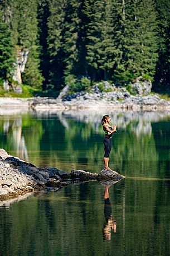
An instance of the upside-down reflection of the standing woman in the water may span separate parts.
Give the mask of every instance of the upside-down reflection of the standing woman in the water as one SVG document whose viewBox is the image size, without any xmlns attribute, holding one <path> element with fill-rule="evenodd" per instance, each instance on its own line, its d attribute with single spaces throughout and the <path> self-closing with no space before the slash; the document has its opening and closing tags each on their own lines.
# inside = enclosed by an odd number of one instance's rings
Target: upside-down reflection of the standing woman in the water
<svg viewBox="0 0 170 256">
<path fill-rule="evenodd" d="M 109 187 L 110 185 L 105 185 L 104 188 L 104 215 L 105 215 L 105 222 L 103 227 L 103 238 L 104 240 L 111 240 L 111 230 L 116 232 L 116 221 L 113 221 L 113 216 L 111 213 L 111 203 L 109 200 Z"/>
</svg>

